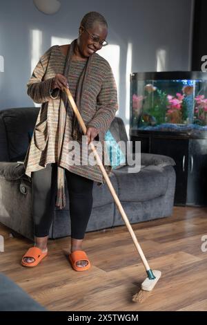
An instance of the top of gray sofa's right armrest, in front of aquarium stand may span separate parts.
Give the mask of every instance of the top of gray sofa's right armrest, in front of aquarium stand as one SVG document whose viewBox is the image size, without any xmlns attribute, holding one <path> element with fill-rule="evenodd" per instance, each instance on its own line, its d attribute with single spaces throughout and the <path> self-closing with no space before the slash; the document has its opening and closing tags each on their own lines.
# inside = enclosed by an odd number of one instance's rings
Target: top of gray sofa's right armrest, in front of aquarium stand
<svg viewBox="0 0 207 325">
<path fill-rule="evenodd" d="M 141 165 L 149 166 L 175 166 L 175 160 L 169 156 L 162 156 L 156 154 L 141 154 Z"/>
</svg>

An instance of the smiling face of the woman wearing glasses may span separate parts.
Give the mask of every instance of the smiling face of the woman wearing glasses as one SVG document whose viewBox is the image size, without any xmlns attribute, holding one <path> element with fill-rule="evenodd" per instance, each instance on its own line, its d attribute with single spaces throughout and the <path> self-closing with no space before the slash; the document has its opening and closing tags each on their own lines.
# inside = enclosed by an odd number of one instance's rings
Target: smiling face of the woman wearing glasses
<svg viewBox="0 0 207 325">
<path fill-rule="evenodd" d="M 83 57 L 90 57 L 93 53 L 102 48 L 101 41 L 105 41 L 108 30 L 95 22 L 92 28 L 86 30 L 83 26 L 79 28 L 78 46 L 79 52 Z"/>
</svg>

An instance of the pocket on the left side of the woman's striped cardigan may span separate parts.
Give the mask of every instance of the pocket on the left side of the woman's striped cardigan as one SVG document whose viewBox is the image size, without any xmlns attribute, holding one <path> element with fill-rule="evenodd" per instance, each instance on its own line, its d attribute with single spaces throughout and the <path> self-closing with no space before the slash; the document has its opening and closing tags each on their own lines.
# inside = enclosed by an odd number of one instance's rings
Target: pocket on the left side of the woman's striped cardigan
<svg viewBox="0 0 207 325">
<path fill-rule="evenodd" d="M 43 151 L 48 142 L 48 124 L 47 120 L 39 122 L 34 128 L 34 144 L 36 147 Z"/>
</svg>

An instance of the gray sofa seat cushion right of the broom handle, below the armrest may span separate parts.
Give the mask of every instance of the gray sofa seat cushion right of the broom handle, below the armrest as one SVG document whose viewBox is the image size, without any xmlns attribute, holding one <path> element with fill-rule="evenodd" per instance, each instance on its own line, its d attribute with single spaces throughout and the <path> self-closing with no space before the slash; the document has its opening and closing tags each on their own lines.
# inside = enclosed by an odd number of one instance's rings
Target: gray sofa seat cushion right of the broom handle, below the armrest
<svg viewBox="0 0 207 325">
<path fill-rule="evenodd" d="M 168 188 L 166 172 L 159 166 L 144 167 L 139 173 L 128 173 L 124 166 L 112 173 L 117 177 L 120 201 L 149 201 L 166 194 Z"/>
</svg>

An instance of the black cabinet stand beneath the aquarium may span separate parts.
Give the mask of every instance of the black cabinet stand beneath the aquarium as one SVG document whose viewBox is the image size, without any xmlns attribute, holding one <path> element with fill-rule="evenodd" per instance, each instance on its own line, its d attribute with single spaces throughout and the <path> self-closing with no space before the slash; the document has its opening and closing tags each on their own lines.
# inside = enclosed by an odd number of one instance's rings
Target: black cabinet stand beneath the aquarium
<svg viewBox="0 0 207 325">
<path fill-rule="evenodd" d="M 141 152 L 175 160 L 175 205 L 207 206 L 207 138 L 190 138 L 159 131 L 130 130 L 130 140 L 141 141 Z"/>
</svg>

